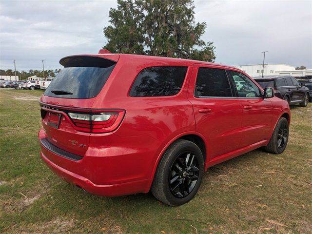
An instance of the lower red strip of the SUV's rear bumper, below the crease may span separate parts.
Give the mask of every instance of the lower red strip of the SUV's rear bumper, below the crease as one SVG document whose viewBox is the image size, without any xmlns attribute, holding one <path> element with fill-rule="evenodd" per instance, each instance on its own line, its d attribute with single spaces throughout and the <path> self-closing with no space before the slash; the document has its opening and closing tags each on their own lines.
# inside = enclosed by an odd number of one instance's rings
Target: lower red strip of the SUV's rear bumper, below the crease
<svg viewBox="0 0 312 234">
<path fill-rule="evenodd" d="M 101 196 L 121 196 L 130 195 L 135 193 L 148 193 L 149 185 L 151 184 L 150 179 L 131 181 L 120 184 L 109 184 L 109 185 L 98 185 L 94 184 L 89 179 L 70 172 L 57 164 L 50 161 L 42 152 L 40 152 L 42 160 L 47 166 L 59 177 L 63 178 L 69 183 L 75 184 L 85 191 Z"/>
</svg>

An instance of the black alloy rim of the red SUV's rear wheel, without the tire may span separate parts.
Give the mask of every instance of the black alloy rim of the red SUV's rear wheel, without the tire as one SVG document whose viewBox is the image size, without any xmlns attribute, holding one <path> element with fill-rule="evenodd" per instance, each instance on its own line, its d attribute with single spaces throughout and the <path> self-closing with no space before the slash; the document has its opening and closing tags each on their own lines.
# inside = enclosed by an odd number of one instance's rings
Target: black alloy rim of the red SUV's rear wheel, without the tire
<svg viewBox="0 0 312 234">
<path fill-rule="evenodd" d="M 176 157 L 169 173 L 169 188 L 178 198 L 189 195 L 199 176 L 198 161 L 194 153 L 185 152 Z"/>
</svg>

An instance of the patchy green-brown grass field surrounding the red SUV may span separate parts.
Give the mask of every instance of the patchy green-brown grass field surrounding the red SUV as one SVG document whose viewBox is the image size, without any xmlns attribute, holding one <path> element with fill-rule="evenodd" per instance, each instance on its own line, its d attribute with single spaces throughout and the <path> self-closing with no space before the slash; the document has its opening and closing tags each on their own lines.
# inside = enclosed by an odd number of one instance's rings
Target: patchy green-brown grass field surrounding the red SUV
<svg viewBox="0 0 312 234">
<path fill-rule="evenodd" d="M 312 103 L 293 106 L 286 151 L 256 150 L 204 174 L 195 198 L 100 197 L 39 157 L 42 91 L 0 90 L 0 233 L 312 233 Z"/>
</svg>

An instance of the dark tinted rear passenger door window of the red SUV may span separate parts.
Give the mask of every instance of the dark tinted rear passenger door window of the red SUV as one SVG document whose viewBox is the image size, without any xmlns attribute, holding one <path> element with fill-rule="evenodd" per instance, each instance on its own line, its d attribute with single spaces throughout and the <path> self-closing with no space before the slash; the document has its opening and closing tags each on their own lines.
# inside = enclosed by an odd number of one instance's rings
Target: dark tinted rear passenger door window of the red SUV
<svg viewBox="0 0 312 234">
<path fill-rule="evenodd" d="M 230 81 L 224 69 L 200 67 L 195 87 L 195 97 L 233 97 Z"/>
</svg>

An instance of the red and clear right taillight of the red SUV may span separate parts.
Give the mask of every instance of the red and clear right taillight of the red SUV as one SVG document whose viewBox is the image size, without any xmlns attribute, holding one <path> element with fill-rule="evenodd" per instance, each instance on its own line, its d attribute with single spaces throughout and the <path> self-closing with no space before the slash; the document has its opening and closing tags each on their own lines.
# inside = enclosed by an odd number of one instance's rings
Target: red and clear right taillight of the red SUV
<svg viewBox="0 0 312 234">
<path fill-rule="evenodd" d="M 78 131 L 107 133 L 114 131 L 119 126 L 124 111 L 68 112 L 67 114 Z"/>
</svg>

